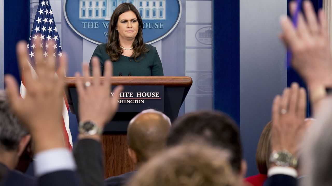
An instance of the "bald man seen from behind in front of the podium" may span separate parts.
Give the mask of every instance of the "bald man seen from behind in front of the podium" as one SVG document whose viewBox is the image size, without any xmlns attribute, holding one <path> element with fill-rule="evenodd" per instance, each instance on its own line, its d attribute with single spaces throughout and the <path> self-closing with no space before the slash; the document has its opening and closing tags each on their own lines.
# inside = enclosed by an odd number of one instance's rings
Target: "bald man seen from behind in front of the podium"
<svg viewBox="0 0 332 186">
<path fill-rule="evenodd" d="M 139 169 L 166 146 L 171 121 L 165 114 L 148 109 L 133 117 L 127 128 L 128 155 Z M 127 172 L 105 180 L 107 186 L 122 186 L 136 171 Z"/>
</svg>

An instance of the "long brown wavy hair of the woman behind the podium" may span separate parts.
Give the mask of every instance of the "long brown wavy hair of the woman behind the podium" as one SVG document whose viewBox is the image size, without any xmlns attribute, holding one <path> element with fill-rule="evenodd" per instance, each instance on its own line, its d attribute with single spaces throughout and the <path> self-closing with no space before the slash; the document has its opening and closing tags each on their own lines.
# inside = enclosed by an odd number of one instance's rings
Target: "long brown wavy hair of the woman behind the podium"
<svg viewBox="0 0 332 186">
<path fill-rule="evenodd" d="M 116 30 L 118 19 L 121 14 L 128 11 L 134 12 L 138 21 L 138 32 L 134 42 L 132 43 L 134 52 L 132 53 L 130 58 L 133 58 L 135 62 L 138 62 L 136 58 L 141 54 L 145 54 L 149 51 L 149 49 L 146 48 L 145 44 L 143 43 L 143 21 L 140 14 L 138 13 L 134 5 L 132 5 L 131 3 L 122 3 L 114 10 L 108 28 L 106 53 L 111 56 L 111 60 L 114 62 L 118 61 L 120 55 L 124 53 L 124 50 L 122 50 L 120 46 L 119 33 Z"/>
</svg>

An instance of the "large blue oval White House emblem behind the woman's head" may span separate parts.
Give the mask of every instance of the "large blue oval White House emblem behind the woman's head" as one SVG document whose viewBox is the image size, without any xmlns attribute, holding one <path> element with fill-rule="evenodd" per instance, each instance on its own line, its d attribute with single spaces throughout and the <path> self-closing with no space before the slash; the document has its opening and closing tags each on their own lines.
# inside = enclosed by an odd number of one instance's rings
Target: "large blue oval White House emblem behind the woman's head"
<svg viewBox="0 0 332 186">
<path fill-rule="evenodd" d="M 143 39 L 149 44 L 166 37 L 180 21 L 180 0 L 64 0 L 70 27 L 83 38 L 106 43 L 109 20 L 122 3 L 133 4 L 143 20 Z"/>
</svg>

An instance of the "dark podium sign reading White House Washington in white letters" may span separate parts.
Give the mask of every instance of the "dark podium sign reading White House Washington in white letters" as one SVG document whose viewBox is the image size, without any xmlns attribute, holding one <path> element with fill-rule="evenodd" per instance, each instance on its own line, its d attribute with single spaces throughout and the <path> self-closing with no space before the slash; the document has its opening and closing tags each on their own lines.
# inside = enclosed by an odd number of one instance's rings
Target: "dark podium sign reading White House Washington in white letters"
<svg viewBox="0 0 332 186">
<path fill-rule="evenodd" d="M 112 87 L 114 90 L 115 86 Z M 114 95 L 114 92 L 111 92 Z M 164 112 L 164 86 L 129 86 L 125 85 L 120 94 L 118 112 L 141 112 L 155 109 Z"/>
</svg>

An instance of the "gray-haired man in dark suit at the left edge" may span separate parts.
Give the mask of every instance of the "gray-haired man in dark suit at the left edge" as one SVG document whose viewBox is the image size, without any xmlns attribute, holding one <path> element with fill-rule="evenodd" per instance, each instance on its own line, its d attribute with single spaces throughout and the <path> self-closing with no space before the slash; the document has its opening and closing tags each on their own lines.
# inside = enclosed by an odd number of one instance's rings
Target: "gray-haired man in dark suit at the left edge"
<svg viewBox="0 0 332 186">
<path fill-rule="evenodd" d="M 0 168 L 3 185 L 35 185 L 34 177 L 15 170 L 19 158 L 31 139 L 28 130 L 9 108 L 7 93 L 0 91 Z"/>
</svg>

